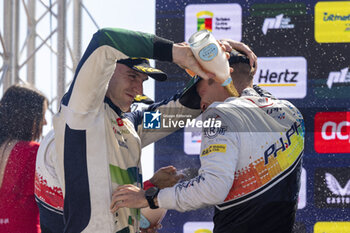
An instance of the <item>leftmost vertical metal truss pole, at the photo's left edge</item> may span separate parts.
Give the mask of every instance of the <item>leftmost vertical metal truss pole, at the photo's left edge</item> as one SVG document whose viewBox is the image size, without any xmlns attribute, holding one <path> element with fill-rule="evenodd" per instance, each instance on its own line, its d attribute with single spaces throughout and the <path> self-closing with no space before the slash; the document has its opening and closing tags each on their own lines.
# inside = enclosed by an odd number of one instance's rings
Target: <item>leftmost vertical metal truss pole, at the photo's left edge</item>
<svg viewBox="0 0 350 233">
<path fill-rule="evenodd" d="M 11 85 L 11 70 L 12 70 L 12 15 L 13 15 L 13 1 L 4 1 L 4 66 L 7 67 L 3 79 L 3 92 Z M 5 71 L 4 71 L 5 72 Z"/>
</svg>

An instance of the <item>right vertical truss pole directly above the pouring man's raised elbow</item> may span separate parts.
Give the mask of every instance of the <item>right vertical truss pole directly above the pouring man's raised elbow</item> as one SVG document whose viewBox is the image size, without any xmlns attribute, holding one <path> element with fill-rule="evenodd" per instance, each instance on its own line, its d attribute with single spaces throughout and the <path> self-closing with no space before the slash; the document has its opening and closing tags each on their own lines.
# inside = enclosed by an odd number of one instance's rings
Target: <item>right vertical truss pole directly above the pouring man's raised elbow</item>
<svg viewBox="0 0 350 233">
<path fill-rule="evenodd" d="M 74 0 L 73 22 L 73 70 L 78 66 L 81 57 L 81 0 Z"/>
</svg>

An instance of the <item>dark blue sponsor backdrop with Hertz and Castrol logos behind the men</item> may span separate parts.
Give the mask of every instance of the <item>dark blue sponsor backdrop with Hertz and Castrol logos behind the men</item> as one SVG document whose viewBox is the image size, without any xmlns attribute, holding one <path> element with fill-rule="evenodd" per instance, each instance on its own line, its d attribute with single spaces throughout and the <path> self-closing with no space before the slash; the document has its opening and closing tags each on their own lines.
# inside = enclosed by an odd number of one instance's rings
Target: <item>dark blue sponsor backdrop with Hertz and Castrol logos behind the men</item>
<svg viewBox="0 0 350 233">
<path fill-rule="evenodd" d="M 305 118 L 294 232 L 350 232 L 350 1 L 156 1 L 157 35 L 182 42 L 201 29 L 249 45 L 259 57 L 254 83 L 291 101 Z M 156 101 L 189 81 L 176 65 L 156 65 L 169 75 L 156 82 Z M 167 119 L 152 114 L 147 126 L 162 128 L 157 122 Z M 193 127 L 162 139 L 155 144 L 155 170 L 198 169 L 200 143 Z M 212 232 L 213 212 L 168 211 L 159 232 Z"/>
</svg>

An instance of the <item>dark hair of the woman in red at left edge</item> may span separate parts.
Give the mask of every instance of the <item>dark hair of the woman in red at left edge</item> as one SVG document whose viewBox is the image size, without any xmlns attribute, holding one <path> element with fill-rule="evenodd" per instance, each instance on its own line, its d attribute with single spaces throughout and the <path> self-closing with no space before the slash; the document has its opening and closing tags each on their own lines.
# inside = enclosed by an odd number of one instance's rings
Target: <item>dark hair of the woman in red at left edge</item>
<svg viewBox="0 0 350 233">
<path fill-rule="evenodd" d="M 0 100 L 0 145 L 6 140 L 39 139 L 46 97 L 28 85 L 9 87 Z"/>
</svg>

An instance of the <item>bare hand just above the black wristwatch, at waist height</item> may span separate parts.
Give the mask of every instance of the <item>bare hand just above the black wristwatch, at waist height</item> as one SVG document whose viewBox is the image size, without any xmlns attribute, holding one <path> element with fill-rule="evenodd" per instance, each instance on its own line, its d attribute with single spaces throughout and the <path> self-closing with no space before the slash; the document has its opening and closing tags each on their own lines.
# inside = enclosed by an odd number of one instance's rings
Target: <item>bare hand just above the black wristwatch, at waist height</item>
<svg viewBox="0 0 350 233">
<path fill-rule="evenodd" d="M 163 189 L 174 186 L 182 178 L 184 178 L 184 175 L 178 174 L 174 166 L 167 166 L 154 173 L 150 181 L 159 189 Z"/>
</svg>

